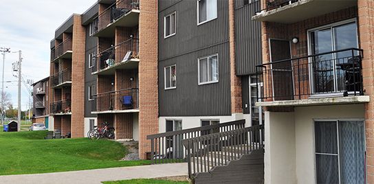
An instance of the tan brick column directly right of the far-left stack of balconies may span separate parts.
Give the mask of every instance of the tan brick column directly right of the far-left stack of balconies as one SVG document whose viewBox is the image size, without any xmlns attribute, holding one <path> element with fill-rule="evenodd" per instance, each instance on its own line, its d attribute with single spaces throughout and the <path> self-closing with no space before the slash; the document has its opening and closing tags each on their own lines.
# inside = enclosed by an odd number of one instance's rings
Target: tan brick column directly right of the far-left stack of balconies
<svg viewBox="0 0 374 184">
<path fill-rule="evenodd" d="M 72 137 L 85 136 L 85 27 L 74 15 L 72 56 Z"/>
</svg>

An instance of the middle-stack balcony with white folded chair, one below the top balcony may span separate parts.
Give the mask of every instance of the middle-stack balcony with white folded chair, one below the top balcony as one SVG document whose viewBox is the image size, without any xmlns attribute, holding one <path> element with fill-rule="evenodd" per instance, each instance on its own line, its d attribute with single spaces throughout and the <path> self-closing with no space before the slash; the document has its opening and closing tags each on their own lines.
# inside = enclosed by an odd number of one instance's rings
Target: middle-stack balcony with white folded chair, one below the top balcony
<svg viewBox="0 0 374 184">
<path fill-rule="evenodd" d="M 137 69 L 139 40 L 131 38 L 94 56 L 93 75 L 114 75 L 115 69 Z"/>
</svg>

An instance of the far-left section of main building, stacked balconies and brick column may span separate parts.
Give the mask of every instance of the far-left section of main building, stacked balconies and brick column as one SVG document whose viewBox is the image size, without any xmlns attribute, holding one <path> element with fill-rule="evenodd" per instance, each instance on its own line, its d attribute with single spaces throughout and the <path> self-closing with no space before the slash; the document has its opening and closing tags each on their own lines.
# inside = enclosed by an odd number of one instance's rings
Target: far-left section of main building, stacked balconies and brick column
<svg viewBox="0 0 374 184">
<path fill-rule="evenodd" d="M 84 137 L 85 27 L 73 14 L 51 41 L 50 115 L 62 135 Z"/>
</svg>

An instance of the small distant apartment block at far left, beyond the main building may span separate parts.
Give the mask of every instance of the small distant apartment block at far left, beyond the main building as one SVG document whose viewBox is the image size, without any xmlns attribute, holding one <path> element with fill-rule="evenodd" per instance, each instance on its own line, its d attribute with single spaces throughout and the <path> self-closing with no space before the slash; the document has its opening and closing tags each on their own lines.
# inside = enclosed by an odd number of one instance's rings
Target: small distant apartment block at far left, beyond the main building
<svg viewBox="0 0 374 184">
<path fill-rule="evenodd" d="M 49 128 L 49 86 L 50 77 L 32 84 L 32 122 L 43 123 Z"/>
</svg>

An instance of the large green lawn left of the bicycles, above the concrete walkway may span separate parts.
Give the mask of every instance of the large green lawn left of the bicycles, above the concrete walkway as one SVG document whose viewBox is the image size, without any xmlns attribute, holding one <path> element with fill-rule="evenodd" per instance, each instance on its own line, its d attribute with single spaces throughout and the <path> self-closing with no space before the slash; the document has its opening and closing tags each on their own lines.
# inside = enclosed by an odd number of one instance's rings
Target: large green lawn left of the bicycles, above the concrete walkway
<svg viewBox="0 0 374 184">
<path fill-rule="evenodd" d="M 108 140 L 49 139 L 46 131 L 4 133 L 0 126 L 0 175 L 91 170 L 150 161 L 119 161 L 126 154 L 120 143 Z"/>
</svg>

